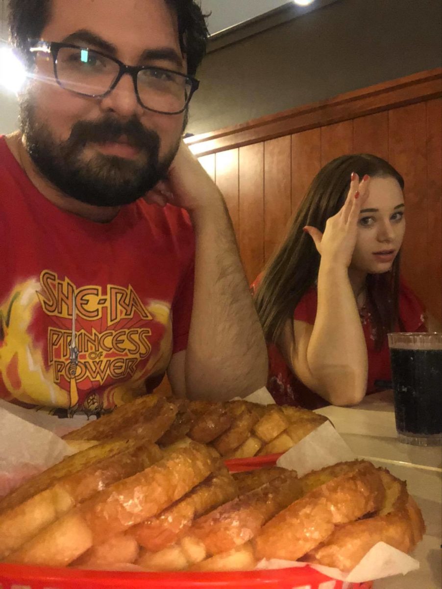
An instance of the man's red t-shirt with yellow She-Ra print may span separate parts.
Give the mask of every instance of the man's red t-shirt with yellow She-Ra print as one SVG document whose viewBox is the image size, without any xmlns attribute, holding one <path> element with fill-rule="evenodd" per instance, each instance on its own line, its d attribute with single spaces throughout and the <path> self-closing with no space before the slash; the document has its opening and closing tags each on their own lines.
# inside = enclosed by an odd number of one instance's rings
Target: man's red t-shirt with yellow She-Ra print
<svg viewBox="0 0 442 589">
<path fill-rule="evenodd" d="M 67 213 L 0 137 L 0 398 L 101 413 L 152 391 L 187 346 L 194 258 L 186 211 Z"/>
</svg>

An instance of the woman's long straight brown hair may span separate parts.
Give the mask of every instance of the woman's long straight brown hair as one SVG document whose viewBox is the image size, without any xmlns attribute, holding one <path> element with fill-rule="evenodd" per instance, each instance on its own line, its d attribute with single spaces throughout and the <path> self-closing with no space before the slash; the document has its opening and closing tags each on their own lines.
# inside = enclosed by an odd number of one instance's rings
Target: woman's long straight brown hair
<svg viewBox="0 0 442 589">
<path fill-rule="evenodd" d="M 303 227 L 310 225 L 325 230 L 327 219 L 333 217 L 346 200 L 352 172 L 360 178 L 365 174 L 371 178 L 391 177 L 404 189 L 399 172 L 387 161 L 371 154 L 341 155 L 316 174 L 286 239 L 267 263 L 256 289 L 256 308 L 267 342 L 279 341 L 287 319 L 293 318 L 304 293 L 317 280 L 320 255 Z M 367 275 L 367 304 L 377 349 L 399 321 L 399 265 L 398 254 L 389 272 Z"/>
</svg>

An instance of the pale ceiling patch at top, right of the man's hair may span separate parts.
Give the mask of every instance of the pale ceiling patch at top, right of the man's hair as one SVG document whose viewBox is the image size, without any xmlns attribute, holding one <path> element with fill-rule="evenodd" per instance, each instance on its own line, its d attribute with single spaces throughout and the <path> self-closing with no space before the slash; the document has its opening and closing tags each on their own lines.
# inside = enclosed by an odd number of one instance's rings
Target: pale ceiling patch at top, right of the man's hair
<svg viewBox="0 0 442 589">
<path fill-rule="evenodd" d="M 287 0 L 200 0 L 211 35 L 288 4 Z"/>
</svg>

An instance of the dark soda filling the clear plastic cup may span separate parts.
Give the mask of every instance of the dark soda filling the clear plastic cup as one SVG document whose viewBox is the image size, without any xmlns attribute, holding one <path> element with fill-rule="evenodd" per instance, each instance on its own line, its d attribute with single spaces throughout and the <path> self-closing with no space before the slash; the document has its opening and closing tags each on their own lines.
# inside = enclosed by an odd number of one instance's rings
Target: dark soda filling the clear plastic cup
<svg viewBox="0 0 442 589">
<path fill-rule="evenodd" d="M 442 350 L 391 349 L 396 428 L 442 434 Z"/>
</svg>

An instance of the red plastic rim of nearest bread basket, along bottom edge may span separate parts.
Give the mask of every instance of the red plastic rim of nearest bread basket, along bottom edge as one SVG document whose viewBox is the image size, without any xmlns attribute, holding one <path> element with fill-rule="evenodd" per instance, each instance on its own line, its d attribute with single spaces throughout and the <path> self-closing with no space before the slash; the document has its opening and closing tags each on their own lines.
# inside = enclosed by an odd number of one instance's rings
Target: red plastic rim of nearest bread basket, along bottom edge
<svg viewBox="0 0 442 589">
<path fill-rule="evenodd" d="M 0 565 L 2 589 L 371 589 L 344 583 L 310 567 L 237 573 L 115 573 L 72 568 Z"/>
</svg>

